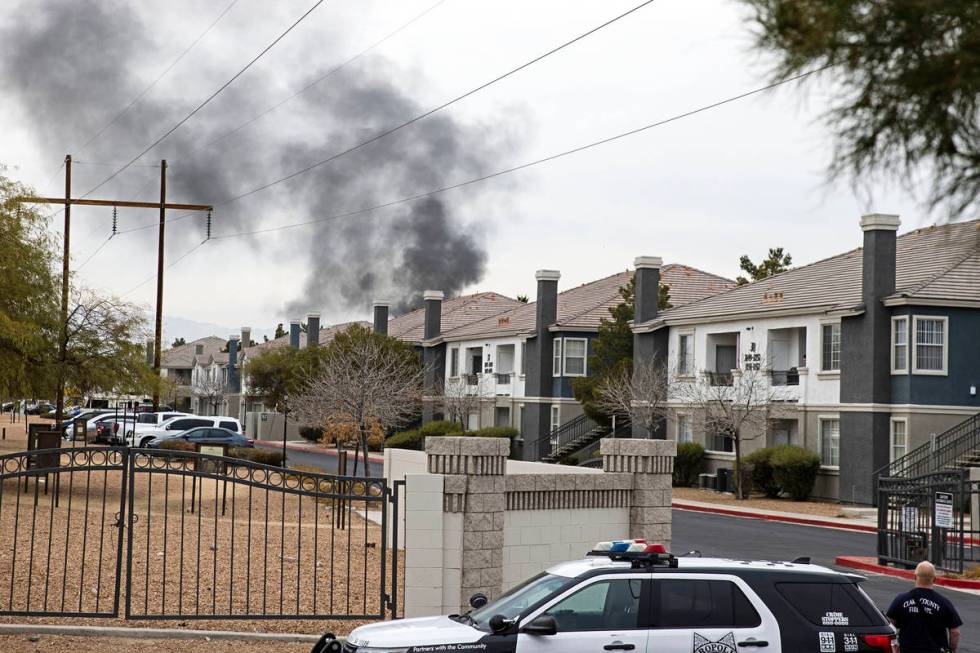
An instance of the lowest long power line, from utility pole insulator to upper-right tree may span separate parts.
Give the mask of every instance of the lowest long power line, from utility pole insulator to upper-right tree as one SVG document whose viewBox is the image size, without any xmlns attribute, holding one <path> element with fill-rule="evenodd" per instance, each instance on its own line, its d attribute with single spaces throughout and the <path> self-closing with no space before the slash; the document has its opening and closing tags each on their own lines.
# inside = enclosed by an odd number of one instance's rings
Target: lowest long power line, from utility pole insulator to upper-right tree
<svg viewBox="0 0 980 653">
<path fill-rule="evenodd" d="M 715 109 L 717 107 L 720 107 L 720 106 L 723 106 L 723 105 L 726 105 L 726 104 L 730 104 L 732 102 L 736 102 L 738 100 L 742 100 L 742 99 L 747 98 L 747 97 L 750 97 L 752 95 L 757 95 L 759 93 L 763 93 L 765 91 L 772 90 L 772 89 L 774 89 L 774 88 L 776 88 L 778 86 L 782 86 L 782 85 L 788 84 L 790 82 L 795 82 L 795 81 L 799 81 L 799 80 L 805 79 L 805 78 L 807 78 L 807 77 L 809 77 L 811 75 L 814 75 L 816 73 L 819 73 L 819 72 L 822 72 L 824 70 L 827 70 L 828 68 L 831 68 L 833 65 L 835 65 L 835 64 L 827 64 L 826 66 L 823 66 L 821 68 L 817 68 L 815 70 L 811 70 L 811 71 L 808 71 L 808 72 L 805 72 L 805 73 L 800 73 L 799 75 L 795 75 L 793 77 L 790 77 L 790 78 L 787 78 L 787 79 L 784 79 L 784 80 L 780 80 L 780 81 L 774 82 L 772 84 L 767 84 L 765 86 L 760 86 L 759 88 L 755 88 L 755 89 L 752 89 L 750 91 L 746 91 L 744 93 L 739 93 L 738 95 L 733 95 L 733 96 L 728 97 L 728 98 L 725 98 L 723 100 L 718 100 L 717 102 L 712 102 L 711 104 L 706 104 L 706 105 L 703 105 L 703 106 L 698 107 L 696 109 L 691 109 L 689 111 L 685 111 L 683 113 L 676 114 L 676 115 L 671 116 L 669 118 L 664 118 L 662 120 L 658 120 L 656 122 L 652 122 L 652 123 L 649 123 L 649 124 L 646 124 L 646 125 L 637 127 L 635 129 L 631 129 L 629 131 L 621 132 L 619 134 L 615 134 L 613 136 L 608 136 L 606 138 L 602 138 L 602 139 L 597 140 L 597 141 L 592 141 L 590 143 L 585 143 L 583 145 L 579 145 L 579 146 L 573 147 L 573 148 L 568 149 L 568 150 L 563 150 L 561 152 L 557 152 L 555 154 L 551 154 L 551 155 L 548 155 L 548 156 L 543 157 L 543 158 L 540 158 L 540 159 L 535 159 L 533 161 L 528 161 L 526 163 L 522 163 L 520 165 L 516 165 L 516 166 L 510 167 L 510 168 L 505 168 L 503 170 L 498 170 L 496 172 L 492 172 L 492 173 L 489 173 L 489 174 L 486 174 L 486 175 L 482 175 L 480 177 L 474 177 L 473 179 L 467 179 L 466 181 L 461 181 L 461 182 L 458 182 L 458 183 L 455 183 L 455 184 L 452 184 L 452 185 L 449 185 L 449 186 L 443 186 L 442 188 L 437 188 L 435 190 L 430 190 L 430 191 L 426 191 L 426 192 L 423 192 L 423 193 L 417 193 L 415 195 L 409 195 L 407 197 L 400 197 L 398 199 L 390 200 L 390 201 L 384 202 L 382 204 L 375 204 L 374 206 L 368 206 L 368 207 L 361 208 L 361 209 L 355 209 L 355 210 L 346 211 L 346 212 L 343 212 L 343 213 L 335 213 L 333 215 L 330 215 L 330 216 L 327 216 L 327 217 L 323 217 L 323 218 L 316 218 L 314 220 L 307 220 L 307 221 L 304 221 L 304 222 L 296 222 L 296 223 L 288 224 L 288 225 L 280 225 L 278 227 L 269 227 L 269 228 L 266 228 L 266 229 L 253 229 L 251 231 L 239 231 L 239 232 L 235 232 L 235 233 L 231 233 L 231 234 L 216 235 L 216 236 L 212 236 L 211 238 L 212 238 L 212 240 L 225 240 L 225 239 L 228 239 L 228 238 L 237 238 L 239 236 L 252 236 L 252 235 L 256 235 L 256 234 L 270 233 L 270 232 L 273 232 L 273 231 L 283 231 L 285 229 L 295 229 L 297 227 L 304 227 L 304 226 L 308 226 L 308 225 L 311 225 L 311 224 L 316 224 L 316 223 L 319 223 L 319 222 L 328 222 L 328 221 L 332 221 L 332 220 L 340 220 L 340 219 L 343 219 L 343 218 L 349 218 L 349 217 L 353 217 L 355 215 L 361 215 L 361 214 L 364 214 L 364 213 L 370 213 L 372 211 L 377 211 L 379 209 L 384 209 L 384 208 L 388 208 L 388 207 L 391 207 L 391 206 L 396 206 L 398 204 L 404 204 L 404 203 L 407 203 L 407 202 L 414 202 L 414 201 L 417 201 L 417 200 L 420 200 L 420 199 L 425 199 L 427 197 L 432 197 L 434 195 L 440 195 L 442 193 L 445 193 L 445 192 L 448 192 L 448 191 L 451 191 L 451 190 L 455 190 L 457 188 L 462 188 L 464 186 L 470 186 L 472 184 L 477 184 L 477 183 L 480 183 L 480 182 L 483 182 L 483 181 L 487 181 L 487 180 L 490 180 L 490 179 L 495 179 L 497 177 L 502 177 L 504 175 L 508 175 L 508 174 L 513 173 L 513 172 L 517 172 L 519 170 L 524 170 L 526 168 L 531 168 L 533 166 L 541 165 L 543 163 L 548 163 L 550 161 L 554 161 L 556 159 L 561 159 L 561 158 L 564 158 L 566 156 L 570 156 L 572 154 L 577 154 L 578 152 L 583 152 L 585 150 L 589 150 L 589 149 L 592 149 L 594 147 L 599 147 L 600 145 L 605 145 L 607 143 L 612 143 L 614 141 L 618 141 L 618 140 L 621 140 L 623 138 L 627 138 L 629 136 L 634 136 L 636 134 L 640 134 L 642 132 L 648 131 L 648 130 L 653 129 L 655 127 L 660 127 L 660 126 L 666 125 L 668 123 L 676 122 L 678 120 L 682 120 L 684 118 L 688 118 L 690 116 L 693 116 L 693 115 L 696 115 L 696 114 L 699 114 L 699 113 L 703 113 L 705 111 L 709 111 L 711 109 Z"/>
</svg>

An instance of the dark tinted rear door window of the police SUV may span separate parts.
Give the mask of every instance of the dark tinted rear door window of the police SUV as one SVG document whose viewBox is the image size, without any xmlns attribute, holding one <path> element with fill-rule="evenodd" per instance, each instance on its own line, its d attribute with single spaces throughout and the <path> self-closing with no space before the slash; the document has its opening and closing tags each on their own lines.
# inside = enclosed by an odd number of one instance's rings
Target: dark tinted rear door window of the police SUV
<svg viewBox="0 0 980 653">
<path fill-rule="evenodd" d="M 755 628 L 759 613 L 727 580 L 653 581 L 654 628 Z"/>
</svg>

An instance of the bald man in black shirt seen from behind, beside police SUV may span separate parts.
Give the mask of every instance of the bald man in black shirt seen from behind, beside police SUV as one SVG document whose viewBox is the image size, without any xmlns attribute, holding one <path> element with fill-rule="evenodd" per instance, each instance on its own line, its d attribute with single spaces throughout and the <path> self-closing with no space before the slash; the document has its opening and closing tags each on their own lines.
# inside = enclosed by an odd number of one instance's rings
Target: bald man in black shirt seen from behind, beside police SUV
<svg viewBox="0 0 980 653">
<path fill-rule="evenodd" d="M 915 589 L 899 594 L 887 616 L 898 627 L 902 653 L 956 653 L 963 620 L 946 597 L 932 589 L 936 568 L 920 562 L 915 568 Z"/>
</svg>

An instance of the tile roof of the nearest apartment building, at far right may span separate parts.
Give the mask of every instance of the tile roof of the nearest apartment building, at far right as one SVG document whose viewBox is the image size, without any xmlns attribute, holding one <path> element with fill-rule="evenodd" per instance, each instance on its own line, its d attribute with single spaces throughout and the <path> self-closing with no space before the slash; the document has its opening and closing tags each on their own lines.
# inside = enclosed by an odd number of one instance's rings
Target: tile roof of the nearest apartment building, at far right
<svg viewBox="0 0 980 653">
<path fill-rule="evenodd" d="M 889 299 L 980 301 L 980 220 L 902 234 Z M 861 303 L 862 249 L 793 268 L 661 313 L 646 326 L 785 311 L 832 311 Z"/>
</svg>

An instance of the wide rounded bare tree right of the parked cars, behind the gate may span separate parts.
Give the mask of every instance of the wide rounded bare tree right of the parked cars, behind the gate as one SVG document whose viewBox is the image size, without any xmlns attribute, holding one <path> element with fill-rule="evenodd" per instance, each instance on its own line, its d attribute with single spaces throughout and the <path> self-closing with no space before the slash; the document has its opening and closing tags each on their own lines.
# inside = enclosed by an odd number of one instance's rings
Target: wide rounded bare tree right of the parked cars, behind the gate
<svg viewBox="0 0 980 653">
<path fill-rule="evenodd" d="M 421 411 L 424 367 L 410 346 L 353 325 L 323 349 L 306 382 L 290 398 L 290 410 L 301 420 L 355 425 L 366 454 L 372 423 L 387 431 L 404 426 Z"/>
</svg>

